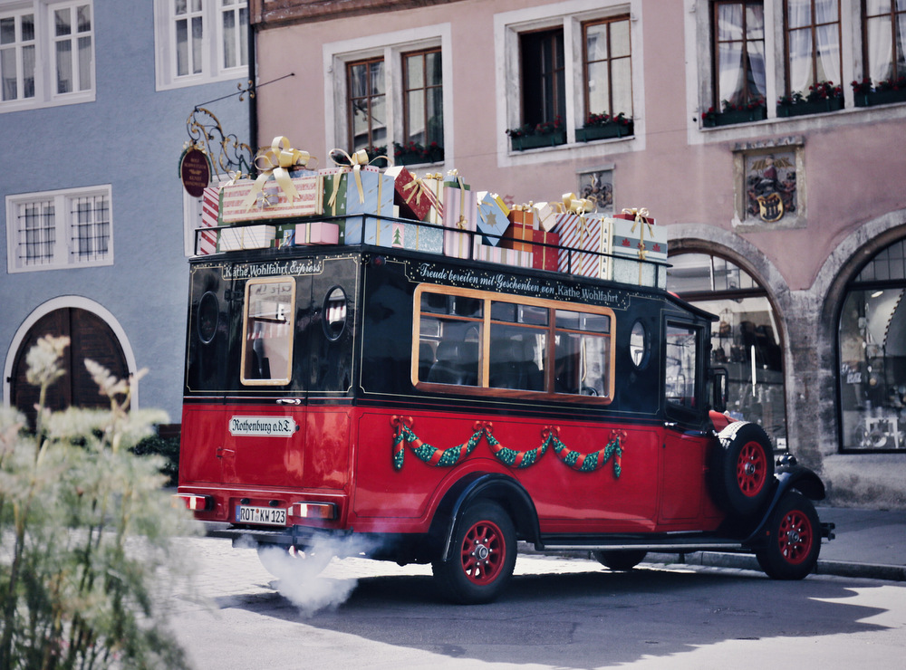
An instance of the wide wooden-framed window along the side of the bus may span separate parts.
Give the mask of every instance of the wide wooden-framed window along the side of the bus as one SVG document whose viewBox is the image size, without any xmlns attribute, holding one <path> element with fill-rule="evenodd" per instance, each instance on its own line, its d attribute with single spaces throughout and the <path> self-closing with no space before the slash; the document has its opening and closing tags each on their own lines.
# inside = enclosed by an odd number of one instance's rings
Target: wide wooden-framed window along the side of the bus
<svg viewBox="0 0 906 670">
<path fill-rule="evenodd" d="M 423 284 L 416 291 L 416 384 L 609 402 L 612 311 Z M 461 388 L 461 391 L 458 391 Z"/>
</svg>

